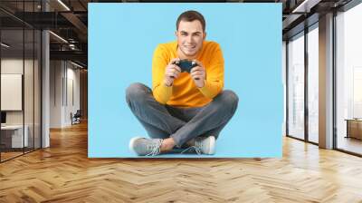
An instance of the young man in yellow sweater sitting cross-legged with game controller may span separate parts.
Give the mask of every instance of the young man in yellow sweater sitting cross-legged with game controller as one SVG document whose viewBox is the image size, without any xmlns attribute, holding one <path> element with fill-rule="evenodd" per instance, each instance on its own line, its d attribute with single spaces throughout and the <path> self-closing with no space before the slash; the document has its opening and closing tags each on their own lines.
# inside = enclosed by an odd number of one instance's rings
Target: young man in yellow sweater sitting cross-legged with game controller
<svg viewBox="0 0 362 203">
<path fill-rule="evenodd" d="M 161 43 L 153 56 L 152 90 L 132 83 L 126 91 L 130 110 L 148 131 L 129 148 L 158 155 L 174 148 L 214 154 L 215 140 L 233 117 L 238 97 L 224 88 L 224 57 L 218 43 L 205 41 L 204 16 L 195 11 L 176 21 L 176 42 Z M 181 72 L 181 60 L 192 62 Z"/>
</svg>

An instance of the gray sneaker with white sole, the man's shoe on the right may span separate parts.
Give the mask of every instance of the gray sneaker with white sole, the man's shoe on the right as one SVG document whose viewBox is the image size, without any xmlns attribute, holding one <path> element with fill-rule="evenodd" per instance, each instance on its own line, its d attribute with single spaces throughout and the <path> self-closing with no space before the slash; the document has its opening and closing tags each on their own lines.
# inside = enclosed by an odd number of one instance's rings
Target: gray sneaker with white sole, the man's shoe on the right
<svg viewBox="0 0 362 203">
<path fill-rule="evenodd" d="M 209 137 L 197 137 L 187 144 L 190 146 L 186 150 L 183 150 L 181 153 L 186 152 L 187 150 L 195 150 L 195 152 L 200 154 L 214 154 L 215 149 L 215 138 L 214 136 Z"/>
</svg>

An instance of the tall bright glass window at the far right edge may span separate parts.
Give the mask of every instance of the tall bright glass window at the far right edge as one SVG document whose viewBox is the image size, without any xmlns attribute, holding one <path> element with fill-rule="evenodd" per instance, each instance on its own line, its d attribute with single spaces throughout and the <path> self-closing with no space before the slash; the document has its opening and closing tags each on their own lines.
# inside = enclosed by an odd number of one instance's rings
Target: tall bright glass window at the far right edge
<svg viewBox="0 0 362 203">
<path fill-rule="evenodd" d="M 337 148 L 362 154 L 362 4 L 337 21 Z"/>
</svg>

